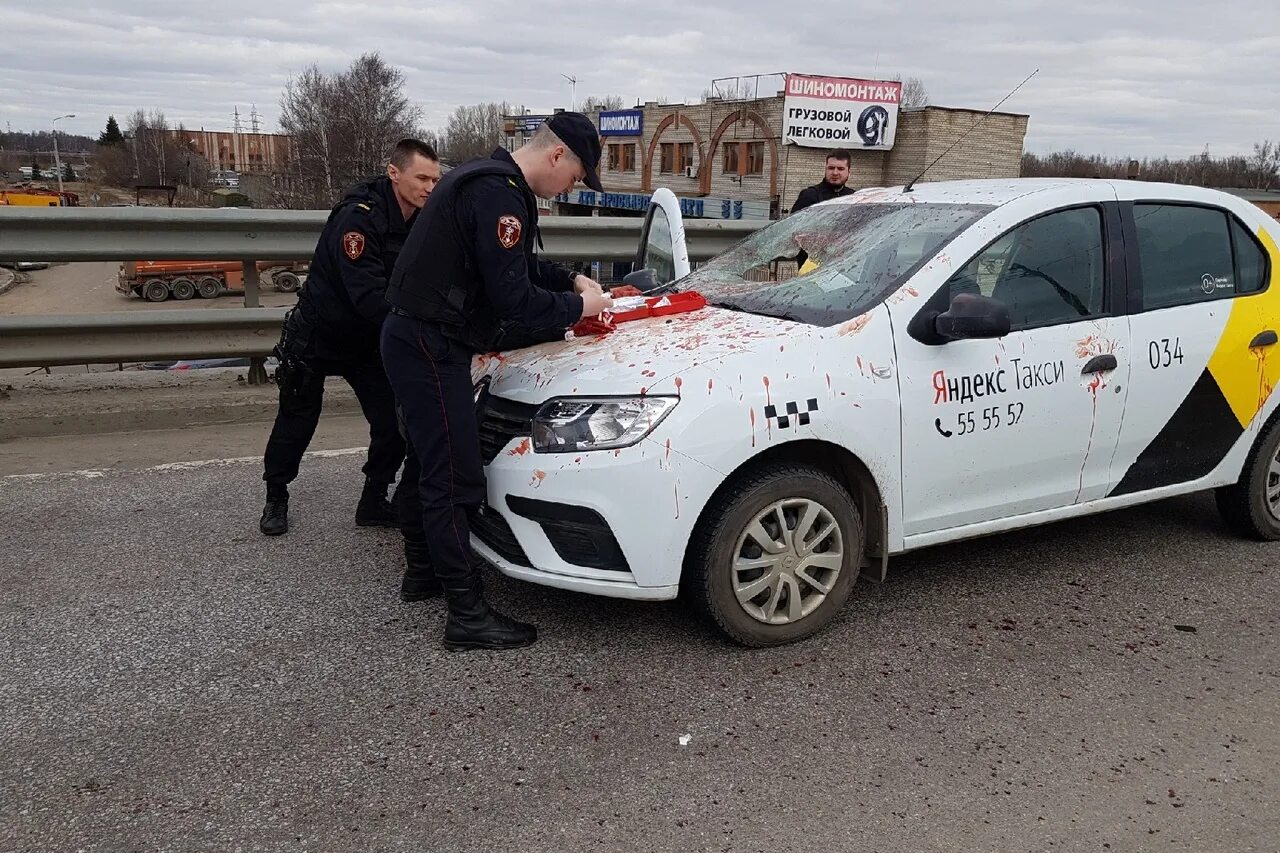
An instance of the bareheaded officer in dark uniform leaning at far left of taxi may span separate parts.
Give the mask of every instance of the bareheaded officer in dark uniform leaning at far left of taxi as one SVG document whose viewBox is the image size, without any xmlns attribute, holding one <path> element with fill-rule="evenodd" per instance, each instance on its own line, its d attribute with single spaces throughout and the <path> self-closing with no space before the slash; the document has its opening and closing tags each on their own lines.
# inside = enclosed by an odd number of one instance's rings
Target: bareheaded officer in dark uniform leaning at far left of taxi
<svg viewBox="0 0 1280 853">
<path fill-rule="evenodd" d="M 311 443 L 324 400 L 325 377 L 342 377 L 369 421 L 365 488 L 356 524 L 396 526 L 387 488 L 404 460 L 396 398 L 378 352 L 387 316 L 387 279 L 417 211 L 440 179 L 431 146 L 401 140 L 387 174 L 357 183 L 329 214 L 297 306 L 284 321 L 276 355 L 280 406 L 266 442 L 266 535 L 289 529 L 288 484 Z"/>
</svg>

